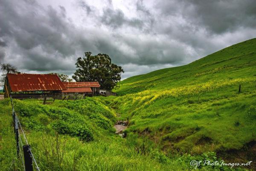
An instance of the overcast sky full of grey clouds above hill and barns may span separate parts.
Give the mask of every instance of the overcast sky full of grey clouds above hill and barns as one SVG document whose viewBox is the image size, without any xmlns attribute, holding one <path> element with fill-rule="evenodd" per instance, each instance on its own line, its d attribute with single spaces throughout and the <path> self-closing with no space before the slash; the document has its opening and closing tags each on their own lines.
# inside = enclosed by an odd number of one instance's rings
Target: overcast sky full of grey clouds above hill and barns
<svg viewBox="0 0 256 171">
<path fill-rule="evenodd" d="M 127 78 L 255 37 L 255 0 L 0 0 L 0 62 L 27 73 L 72 75 L 90 51 Z"/>
</svg>

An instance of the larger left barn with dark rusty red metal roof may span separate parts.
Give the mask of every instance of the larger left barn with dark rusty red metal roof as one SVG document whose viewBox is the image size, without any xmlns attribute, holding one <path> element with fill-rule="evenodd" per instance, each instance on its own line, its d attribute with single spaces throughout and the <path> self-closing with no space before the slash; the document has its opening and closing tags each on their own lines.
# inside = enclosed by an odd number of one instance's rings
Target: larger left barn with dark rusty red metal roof
<svg viewBox="0 0 256 171">
<path fill-rule="evenodd" d="M 55 74 L 7 74 L 4 84 L 4 97 L 15 99 L 60 97 L 66 87 Z"/>
</svg>

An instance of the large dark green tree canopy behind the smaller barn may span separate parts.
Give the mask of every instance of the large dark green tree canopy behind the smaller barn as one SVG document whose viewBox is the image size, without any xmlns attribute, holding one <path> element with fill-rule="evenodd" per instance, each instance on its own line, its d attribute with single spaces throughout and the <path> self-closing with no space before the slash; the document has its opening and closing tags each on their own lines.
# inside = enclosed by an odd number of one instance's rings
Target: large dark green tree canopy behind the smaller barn
<svg viewBox="0 0 256 171">
<path fill-rule="evenodd" d="M 111 62 L 107 54 L 92 55 L 85 52 L 83 57 L 77 58 L 76 72 L 72 78 L 76 81 L 99 81 L 102 89 L 112 90 L 121 74 L 124 72 L 122 67 Z"/>
</svg>

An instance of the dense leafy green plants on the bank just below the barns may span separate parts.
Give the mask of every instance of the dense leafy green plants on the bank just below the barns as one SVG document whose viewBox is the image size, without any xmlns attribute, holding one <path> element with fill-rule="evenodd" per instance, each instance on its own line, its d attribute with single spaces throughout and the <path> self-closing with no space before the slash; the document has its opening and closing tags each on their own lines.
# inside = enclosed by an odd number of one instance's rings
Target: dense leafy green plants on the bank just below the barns
<svg viewBox="0 0 256 171">
<path fill-rule="evenodd" d="M 43 105 L 33 100 L 14 100 L 15 111 L 26 128 L 77 136 L 92 141 L 99 130 L 113 131 L 114 113 L 97 99 L 58 101 Z"/>
</svg>

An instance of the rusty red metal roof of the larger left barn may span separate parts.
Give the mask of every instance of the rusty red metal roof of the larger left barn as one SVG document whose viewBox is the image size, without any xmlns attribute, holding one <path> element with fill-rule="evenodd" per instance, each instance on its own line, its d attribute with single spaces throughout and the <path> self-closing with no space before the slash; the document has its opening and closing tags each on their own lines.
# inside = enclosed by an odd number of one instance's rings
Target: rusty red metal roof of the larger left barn
<svg viewBox="0 0 256 171">
<path fill-rule="evenodd" d="M 66 90 L 55 74 L 7 74 L 12 92 Z"/>
</svg>

